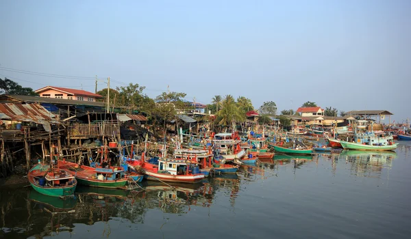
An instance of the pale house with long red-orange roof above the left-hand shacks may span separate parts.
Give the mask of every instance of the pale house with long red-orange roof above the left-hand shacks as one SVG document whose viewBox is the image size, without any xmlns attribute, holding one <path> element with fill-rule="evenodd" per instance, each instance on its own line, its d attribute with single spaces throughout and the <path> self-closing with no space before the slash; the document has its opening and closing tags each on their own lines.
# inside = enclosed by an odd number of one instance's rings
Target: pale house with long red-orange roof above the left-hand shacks
<svg viewBox="0 0 411 239">
<path fill-rule="evenodd" d="M 69 89 L 63 87 L 49 86 L 37 89 L 36 92 L 40 97 L 47 98 L 60 98 L 66 100 L 86 100 L 90 102 L 95 102 L 99 98 L 103 98 L 99 94 L 94 94 L 92 92 L 86 92 L 82 89 Z"/>
</svg>

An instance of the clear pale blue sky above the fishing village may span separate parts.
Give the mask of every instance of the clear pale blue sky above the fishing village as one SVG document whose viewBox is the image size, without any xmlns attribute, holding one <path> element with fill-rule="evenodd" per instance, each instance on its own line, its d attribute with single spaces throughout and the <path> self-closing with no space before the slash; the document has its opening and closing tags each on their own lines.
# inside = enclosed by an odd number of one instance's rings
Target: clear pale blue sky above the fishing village
<svg viewBox="0 0 411 239">
<path fill-rule="evenodd" d="M 0 78 L 411 117 L 411 1 L 0 1 Z M 22 74 L 12 68 L 79 79 Z M 86 78 L 84 78 L 86 77 Z M 99 81 L 99 89 L 107 87 Z"/>
</svg>

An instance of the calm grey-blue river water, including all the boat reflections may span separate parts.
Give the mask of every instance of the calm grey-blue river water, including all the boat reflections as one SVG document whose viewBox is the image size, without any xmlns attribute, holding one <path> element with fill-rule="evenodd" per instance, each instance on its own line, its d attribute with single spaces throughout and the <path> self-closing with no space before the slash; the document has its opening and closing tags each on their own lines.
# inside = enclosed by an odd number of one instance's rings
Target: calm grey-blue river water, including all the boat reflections
<svg viewBox="0 0 411 239">
<path fill-rule="evenodd" d="M 0 238 L 410 238 L 411 143 L 242 167 L 199 185 L 73 199 L 0 191 Z"/>
</svg>

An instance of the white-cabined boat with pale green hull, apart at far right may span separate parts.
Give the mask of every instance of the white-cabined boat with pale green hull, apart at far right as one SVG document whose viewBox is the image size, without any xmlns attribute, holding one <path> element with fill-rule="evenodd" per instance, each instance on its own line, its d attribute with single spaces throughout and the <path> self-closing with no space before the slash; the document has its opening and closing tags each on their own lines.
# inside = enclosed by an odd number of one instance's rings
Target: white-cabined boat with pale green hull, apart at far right
<svg viewBox="0 0 411 239">
<path fill-rule="evenodd" d="M 353 142 L 340 141 L 344 149 L 349 150 L 395 150 L 398 143 L 394 143 L 393 137 L 386 137 L 384 132 L 360 132 L 354 135 Z"/>
</svg>

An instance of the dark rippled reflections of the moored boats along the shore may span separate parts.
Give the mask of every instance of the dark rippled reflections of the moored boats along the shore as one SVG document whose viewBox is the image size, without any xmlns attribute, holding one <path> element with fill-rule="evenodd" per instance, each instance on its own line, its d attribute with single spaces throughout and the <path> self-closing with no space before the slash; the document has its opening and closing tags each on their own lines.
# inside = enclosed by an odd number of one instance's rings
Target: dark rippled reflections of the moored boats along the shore
<svg viewBox="0 0 411 239">
<path fill-rule="evenodd" d="M 411 150 L 411 145 L 400 146 L 398 152 Z M 216 175 L 201 184 L 171 184 L 170 187 L 161 182 L 143 182 L 141 186 L 144 190 L 138 191 L 78 186 L 75 197 L 64 200 L 41 195 L 31 188 L 1 191 L 0 238 L 56 236 L 62 231 L 71 233 L 79 223 L 94 226 L 101 223 L 103 235 L 109 237 L 110 221 L 127 220 L 140 225 L 145 223 L 147 213 L 153 210 L 184 216 L 195 213 L 192 212 L 193 207 L 215 206 L 217 195 L 219 203 L 229 203 L 234 210 L 244 184 L 251 184 L 251 187 L 253 182 L 260 180 L 276 177 L 282 180 L 281 177 L 287 173 L 301 172 L 304 180 L 309 180 L 306 175 L 312 173 L 323 173 L 326 177 L 329 171 L 346 171 L 345 175 L 374 180 L 381 177 L 383 169 L 392 167 L 396 157 L 396 152 L 355 150 L 308 156 L 276 154 L 272 159 L 258 160 L 256 165 L 241 167 L 238 174 Z M 315 171 L 310 170 L 313 166 L 316 167 Z M 292 169 L 292 172 L 281 170 L 286 168 Z"/>
</svg>

